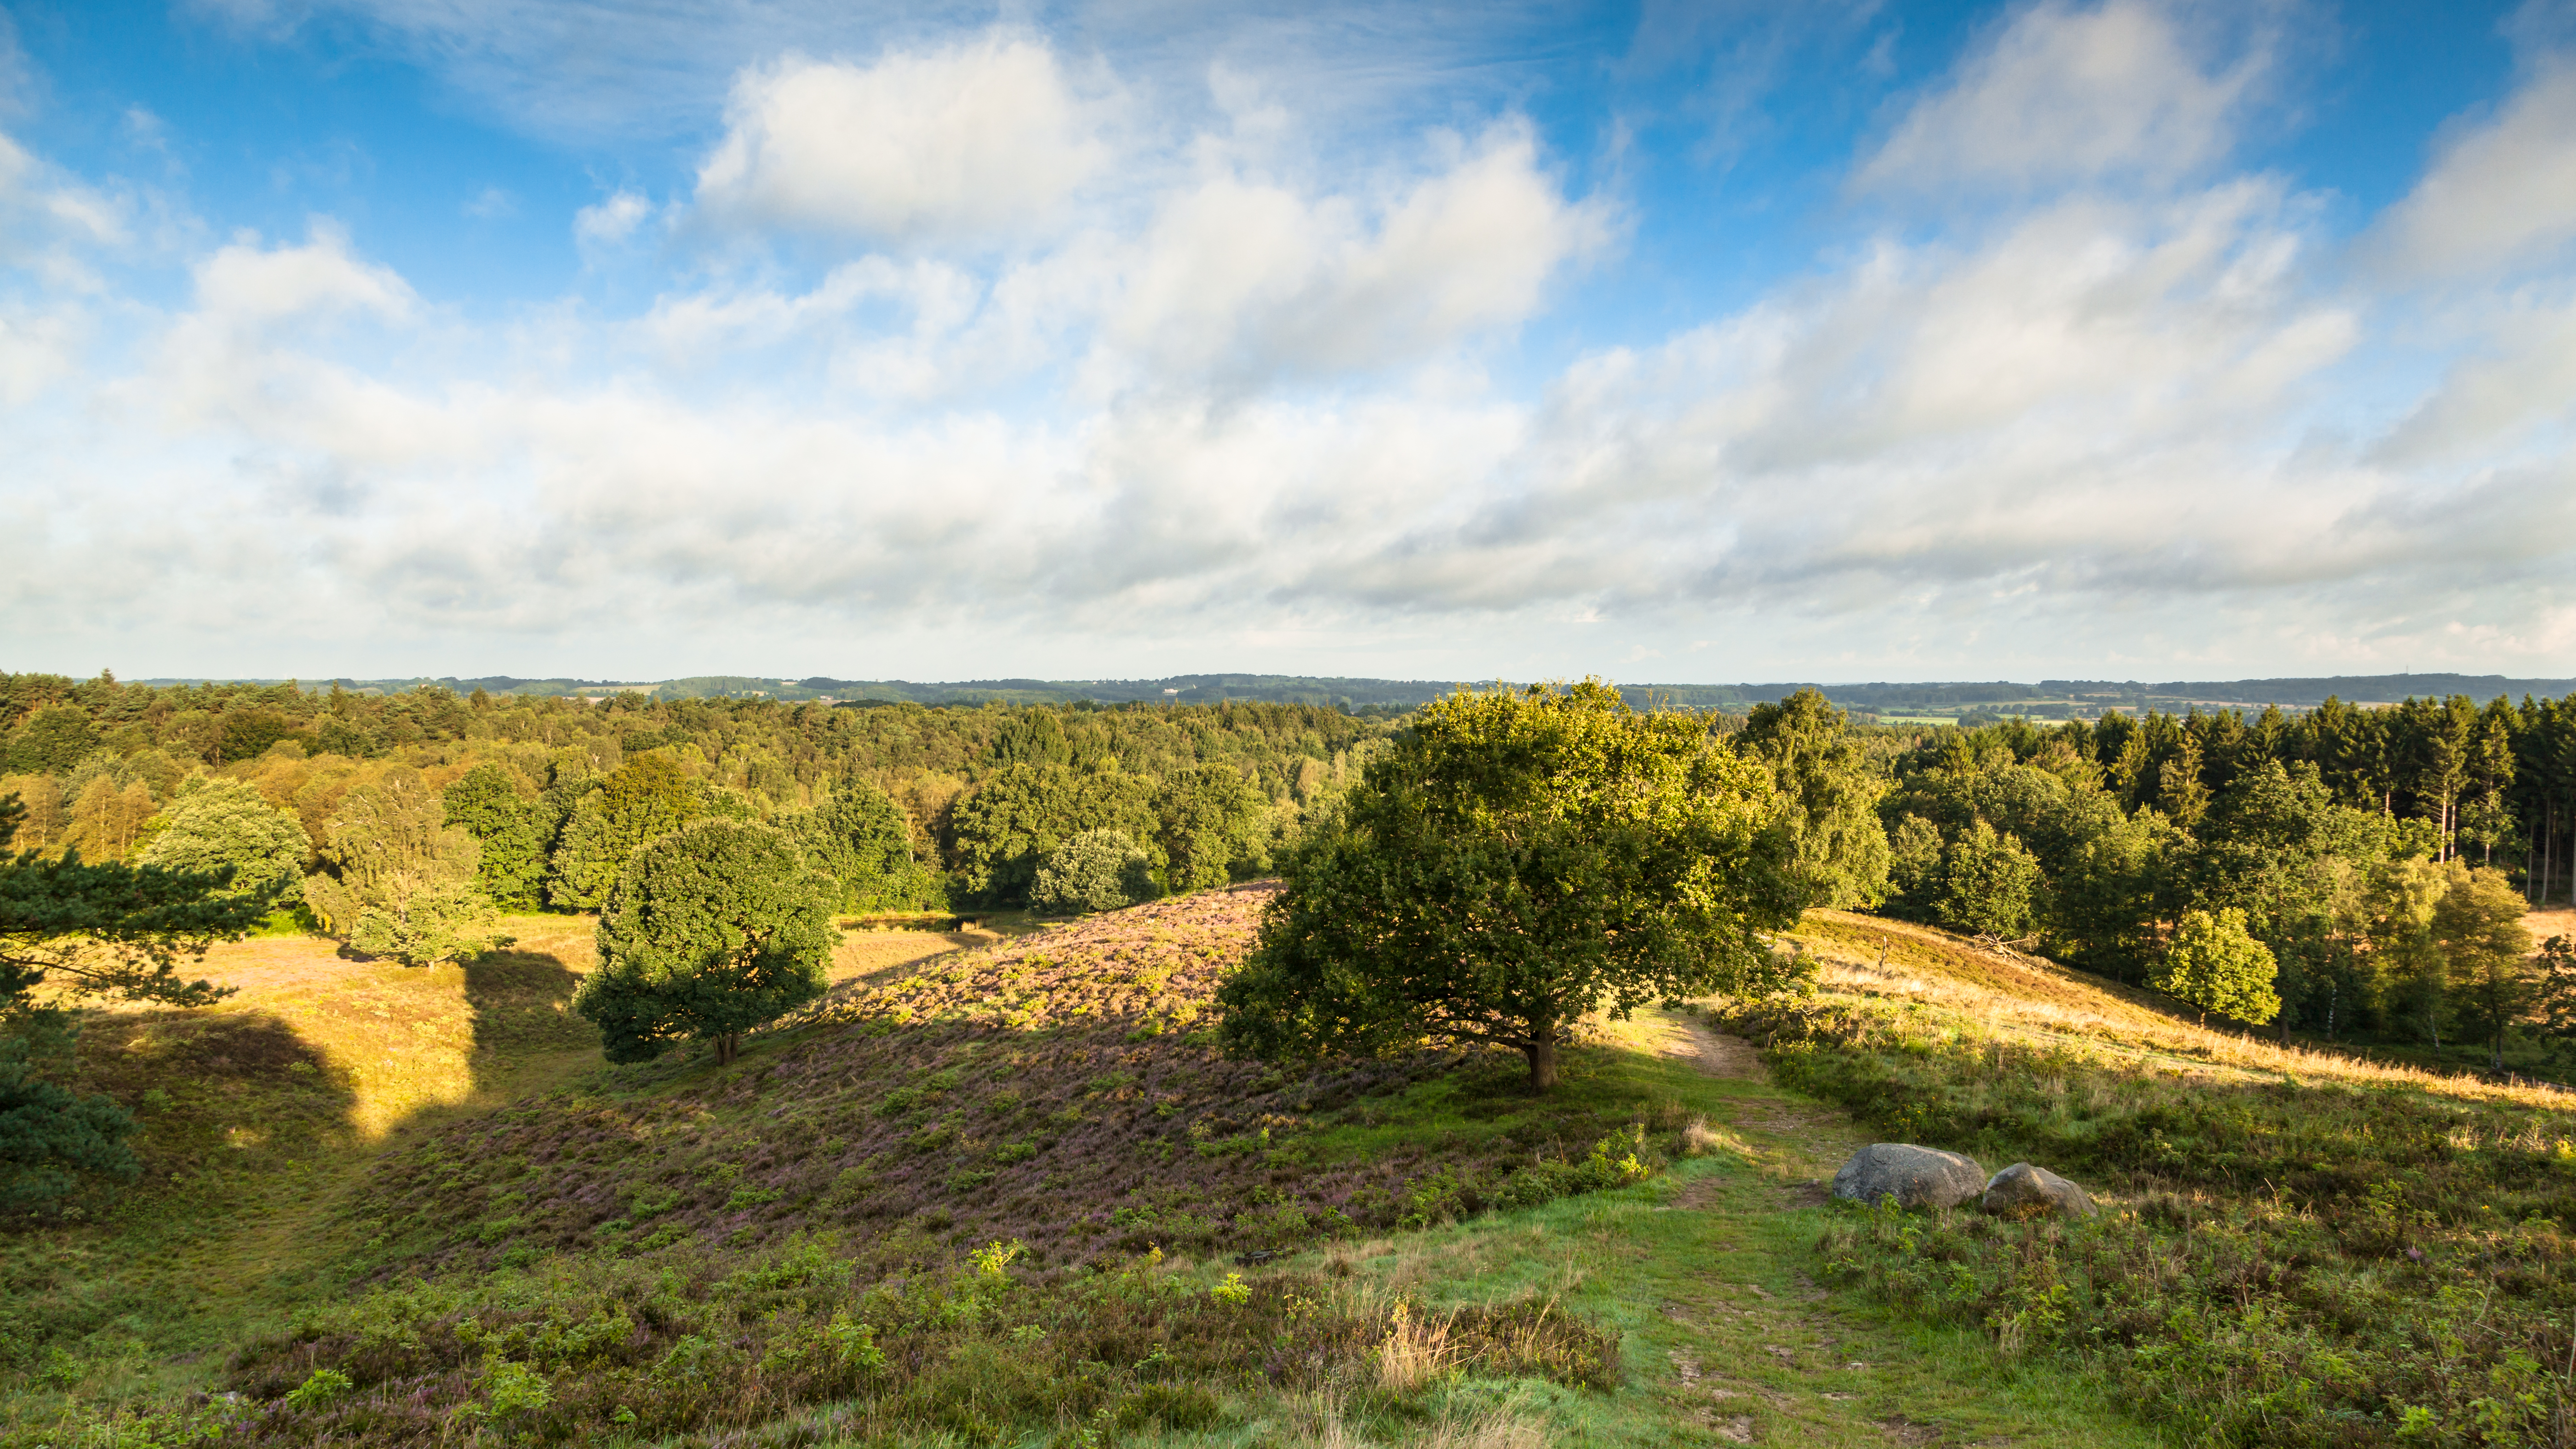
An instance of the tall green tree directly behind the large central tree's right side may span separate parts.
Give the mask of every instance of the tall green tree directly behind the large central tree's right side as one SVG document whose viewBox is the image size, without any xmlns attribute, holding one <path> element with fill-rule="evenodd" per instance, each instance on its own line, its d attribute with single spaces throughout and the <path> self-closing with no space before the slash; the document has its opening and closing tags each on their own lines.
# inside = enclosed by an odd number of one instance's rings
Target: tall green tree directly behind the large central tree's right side
<svg viewBox="0 0 2576 1449">
<path fill-rule="evenodd" d="M 1814 688 L 1780 704 L 1754 704 L 1736 735 L 1772 768 L 1772 786 L 1793 802 L 1795 856 L 1808 905 L 1878 905 L 1888 890 L 1888 833 L 1878 799 L 1888 792 L 1844 714 Z"/>
</svg>

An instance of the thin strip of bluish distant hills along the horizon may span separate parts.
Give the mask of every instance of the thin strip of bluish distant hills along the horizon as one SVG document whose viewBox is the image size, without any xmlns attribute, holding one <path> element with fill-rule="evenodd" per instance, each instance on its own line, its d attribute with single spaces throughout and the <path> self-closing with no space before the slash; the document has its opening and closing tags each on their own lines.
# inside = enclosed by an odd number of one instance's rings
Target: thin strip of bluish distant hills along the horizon
<svg viewBox="0 0 2576 1449">
<path fill-rule="evenodd" d="M 142 683 L 204 683 L 155 678 Z M 258 681 L 283 683 L 283 681 Z M 1461 683 L 1492 681 L 1427 681 L 1427 678 L 1314 678 L 1314 676 L 1262 676 L 1262 673 L 1190 673 L 1170 678 L 969 678 L 917 683 L 902 678 L 755 678 L 755 676 L 696 676 L 670 681 L 605 681 L 605 678 L 340 678 L 307 681 L 337 683 L 340 688 L 394 694 L 425 683 L 471 694 L 554 694 L 554 696 L 608 696 L 647 694 L 652 699 L 778 699 L 788 704 L 1324 704 L 1345 712 L 1401 714 Z M 2476 701 L 2496 696 L 2561 699 L 2576 694 L 2576 678 L 2506 678 L 2465 673 L 2393 673 L 2393 676 L 2331 676 L 2331 678 L 2236 678 L 2236 681 L 2084 681 L 2043 678 L 2038 683 L 1986 681 L 1986 683 L 1628 683 L 1620 691 L 1633 704 L 1662 701 L 1682 709 L 1747 709 L 1752 704 L 1788 696 L 1798 688 L 1816 688 L 1834 704 L 1891 724 L 1901 722 L 1960 722 L 1978 717 L 2027 714 L 2032 719 L 2092 719 L 2105 709 L 2316 709 L 2329 696 L 2347 704 L 2396 704 L 2401 699 L 2445 699 L 2465 694 Z"/>
</svg>

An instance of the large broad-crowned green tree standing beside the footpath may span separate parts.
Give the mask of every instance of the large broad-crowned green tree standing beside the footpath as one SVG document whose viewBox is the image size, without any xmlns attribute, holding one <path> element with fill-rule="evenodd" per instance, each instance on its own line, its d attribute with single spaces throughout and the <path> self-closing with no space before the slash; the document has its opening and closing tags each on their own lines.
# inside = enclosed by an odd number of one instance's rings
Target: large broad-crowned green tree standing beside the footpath
<svg viewBox="0 0 2576 1449">
<path fill-rule="evenodd" d="M 1303 853 L 1218 993 L 1229 1049 L 1494 1042 L 1556 1078 L 1607 1006 L 1783 985 L 1757 931 L 1798 918 L 1770 773 L 1698 719 L 1584 681 L 1422 712 Z"/>
</svg>

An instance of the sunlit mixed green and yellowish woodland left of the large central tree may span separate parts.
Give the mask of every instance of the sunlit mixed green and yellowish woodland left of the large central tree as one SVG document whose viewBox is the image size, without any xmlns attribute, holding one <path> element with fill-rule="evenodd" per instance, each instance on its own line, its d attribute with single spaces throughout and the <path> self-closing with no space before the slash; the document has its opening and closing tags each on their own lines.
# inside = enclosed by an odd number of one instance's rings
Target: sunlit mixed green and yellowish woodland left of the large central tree
<svg viewBox="0 0 2576 1449">
<path fill-rule="evenodd" d="M 1298 704 L 582 704 L 0 676 L 0 797 L 21 799 L 18 848 L 44 853 L 296 851 L 322 915 L 407 915 L 459 877 L 502 908 L 590 910 L 634 846 L 706 815 L 804 841 L 845 910 L 1097 908 L 1103 853 L 1126 897 L 1267 871 L 1391 730 Z"/>
</svg>

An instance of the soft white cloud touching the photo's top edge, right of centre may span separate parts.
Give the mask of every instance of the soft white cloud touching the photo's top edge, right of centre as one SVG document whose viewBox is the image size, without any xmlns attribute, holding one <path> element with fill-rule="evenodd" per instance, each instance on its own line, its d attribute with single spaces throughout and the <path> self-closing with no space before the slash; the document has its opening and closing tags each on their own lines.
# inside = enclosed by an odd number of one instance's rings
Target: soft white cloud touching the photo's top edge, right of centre
<svg viewBox="0 0 2576 1449">
<path fill-rule="evenodd" d="M 1919 101 L 1855 183 L 1878 191 L 2174 180 L 2221 160 L 2264 54 L 2192 54 L 2143 0 L 2022 10 L 1960 75 Z"/>
</svg>

